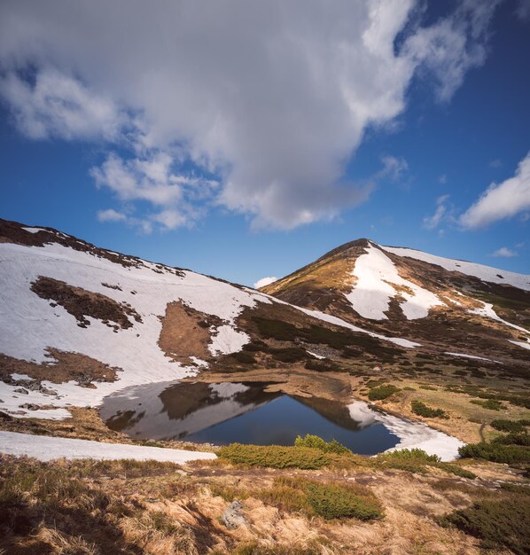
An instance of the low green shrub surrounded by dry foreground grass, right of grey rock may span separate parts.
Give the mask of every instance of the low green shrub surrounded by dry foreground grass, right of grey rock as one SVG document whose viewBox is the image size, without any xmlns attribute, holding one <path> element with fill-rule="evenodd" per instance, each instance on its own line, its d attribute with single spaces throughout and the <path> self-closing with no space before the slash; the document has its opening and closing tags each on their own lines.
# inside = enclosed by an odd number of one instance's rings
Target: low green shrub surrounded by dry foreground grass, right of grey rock
<svg viewBox="0 0 530 555">
<path fill-rule="evenodd" d="M 383 511 L 375 496 L 361 496 L 359 489 L 347 485 L 308 483 L 308 502 L 324 519 L 355 518 L 375 520 L 383 518 Z"/>
</svg>

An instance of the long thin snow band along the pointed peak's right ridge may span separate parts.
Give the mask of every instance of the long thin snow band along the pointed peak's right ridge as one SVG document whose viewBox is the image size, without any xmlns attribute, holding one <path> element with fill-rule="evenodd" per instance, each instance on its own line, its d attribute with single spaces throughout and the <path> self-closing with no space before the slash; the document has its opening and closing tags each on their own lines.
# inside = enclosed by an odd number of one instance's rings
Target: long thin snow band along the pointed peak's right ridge
<svg viewBox="0 0 530 555">
<path fill-rule="evenodd" d="M 382 249 L 389 253 L 398 254 L 399 256 L 409 256 L 423 262 L 436 264 L 445 270 L 459 271 L 467 276 L 479 277 L 482 281 L 487 281 L 495 284 L 508 284 L 530 291 L 530 276 L 525 274 L 516 274 L 515 272 L 498 270 L 483 264 L 476 264 L 475 262 L 465 262 L 460 260 L 452 260 L 450 258 L 443 258 L 435 254 L 424 253 L 417 251 L 413 248 L 403 248 L 401 246 L 380 246 Z"/>
</svg>

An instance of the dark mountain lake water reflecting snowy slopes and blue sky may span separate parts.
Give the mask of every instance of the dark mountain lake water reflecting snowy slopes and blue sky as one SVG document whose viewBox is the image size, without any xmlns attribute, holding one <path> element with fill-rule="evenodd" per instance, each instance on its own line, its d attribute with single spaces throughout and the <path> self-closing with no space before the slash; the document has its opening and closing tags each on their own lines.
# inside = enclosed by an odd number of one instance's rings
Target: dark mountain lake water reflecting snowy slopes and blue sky
<svg viewBox="0 0 530 555">
<path fill-rule="evenodd" d="M 111 429 L 139 439 L 292 445 L 297 435 L 316 434 L 364 455 L 399 441 L 377 421 L 356 421 L 342 403 L 267 392 L 268 385 L 179 382 L 129 387 L 107 397 L 100 413 Z"/>
</svg>

